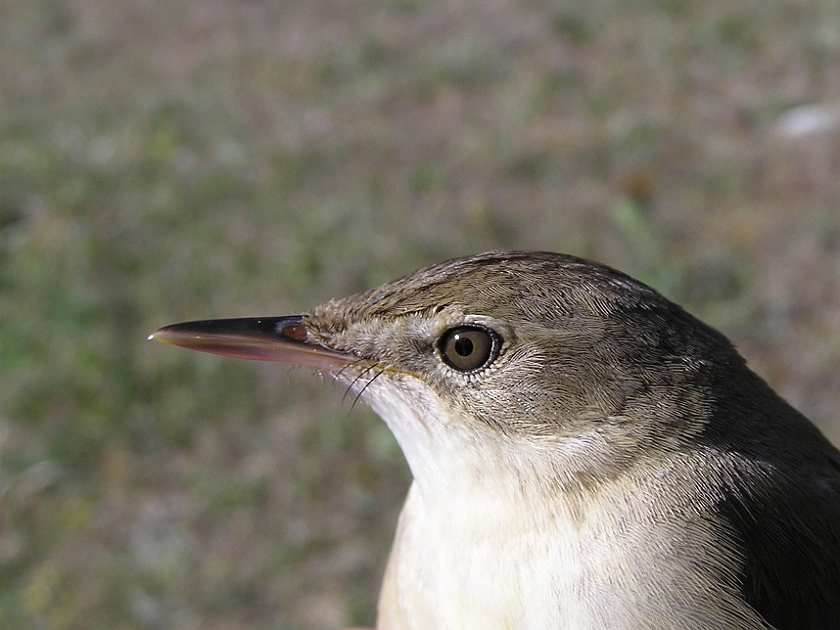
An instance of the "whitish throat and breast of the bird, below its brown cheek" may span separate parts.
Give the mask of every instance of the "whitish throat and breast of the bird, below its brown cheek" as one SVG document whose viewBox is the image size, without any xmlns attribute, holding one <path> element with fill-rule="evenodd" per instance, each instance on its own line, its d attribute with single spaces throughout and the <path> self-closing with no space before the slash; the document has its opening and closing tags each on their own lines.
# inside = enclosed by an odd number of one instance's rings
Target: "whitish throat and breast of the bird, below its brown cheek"
<svg viewBox="0 0 840 630">
<path fill-rule="evenodd" d="M 576 440 L 535 464 L 538 446 L 495 436 L 428 390 L 386 380 L 365 399 L 415 479 L 378 630 L 766 630 L 737 587 L 719 583 L 725 553 L 716 555 L 720 532 L 705 520 L 711 503 L 668 503 L 673 471 L 628 474 L 585 497 L 562 487 L 547 494 L 540 475 L 582 456 Z M 690 549 L 706 567 L 684 561 Z"/>
</svg>

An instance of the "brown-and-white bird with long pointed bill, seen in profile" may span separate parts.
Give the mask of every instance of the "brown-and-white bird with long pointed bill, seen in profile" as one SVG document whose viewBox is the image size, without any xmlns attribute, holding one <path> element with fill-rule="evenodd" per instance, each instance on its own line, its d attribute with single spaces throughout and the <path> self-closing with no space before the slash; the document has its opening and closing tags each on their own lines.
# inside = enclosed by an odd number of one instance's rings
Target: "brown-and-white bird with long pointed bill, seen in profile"
<svg viewBox="0 0 840 630">
<path fill-rule="evenodd" d="M 309 366 L 412 474 L 378 630 L 840 629 L 840 452 L 649 286 L 550 252 L 150 338 Z"/>
</svg>

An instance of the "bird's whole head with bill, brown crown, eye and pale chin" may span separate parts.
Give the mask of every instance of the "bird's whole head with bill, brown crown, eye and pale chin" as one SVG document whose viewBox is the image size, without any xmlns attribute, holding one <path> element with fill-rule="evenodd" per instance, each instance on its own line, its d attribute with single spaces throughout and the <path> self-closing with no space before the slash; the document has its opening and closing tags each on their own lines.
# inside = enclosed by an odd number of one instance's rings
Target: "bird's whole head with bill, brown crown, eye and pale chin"
<svg viewBox="0 0 840 630">
<path fill-rule="evenodd" d="M 446 478 L 454 458 L 551 486 L 679 448 L 710 417 L 709 375 L 743 364 L 653 289 L 550 253 L 456 259 L 303 315 L 151 338 L 332 375 L 385 420 L 417 479 L 430 467 Z"/>
</svg>

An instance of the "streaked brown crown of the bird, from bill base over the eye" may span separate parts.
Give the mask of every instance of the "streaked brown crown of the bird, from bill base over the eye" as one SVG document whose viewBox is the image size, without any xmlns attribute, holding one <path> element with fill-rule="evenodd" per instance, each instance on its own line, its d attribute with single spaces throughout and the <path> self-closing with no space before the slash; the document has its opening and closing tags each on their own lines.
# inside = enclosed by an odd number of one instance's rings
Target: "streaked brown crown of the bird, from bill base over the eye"
<svg viewBox="0 0 840 630">
<path fill-rule="evenodd" d="M 428 344 L 447 328 L 482 318 L 500 334 L 514 333 L 508 341 L 558 333 L 598 337 L 616 315 L 638 309 L 650 315 L 669 307 L 649 287 L 597 263 L 560 254 L 490 252 L 332 300 L 304 320 L 326 345 L 358 350 L 354 344 L 372 349 L 377 336 L 380 344 Z M 656 321 L 636 317 L 632 325 L 655 329 Z"/>
</svg>

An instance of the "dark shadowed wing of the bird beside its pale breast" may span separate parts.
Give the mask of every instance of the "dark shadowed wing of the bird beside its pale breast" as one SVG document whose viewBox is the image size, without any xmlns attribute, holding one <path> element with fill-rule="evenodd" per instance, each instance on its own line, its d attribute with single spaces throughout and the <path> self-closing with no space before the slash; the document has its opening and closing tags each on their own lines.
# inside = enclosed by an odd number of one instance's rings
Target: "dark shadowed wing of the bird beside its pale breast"
<svg viewBox="0 0 840 630">
<path fill-rule="evenodd" d="M 744 599 L 778 630 L 840 629 L 840 454 L 821 435 L 808 443 L 719 505 L 744 554 Z"/>
</svg>

